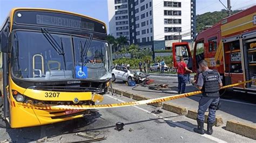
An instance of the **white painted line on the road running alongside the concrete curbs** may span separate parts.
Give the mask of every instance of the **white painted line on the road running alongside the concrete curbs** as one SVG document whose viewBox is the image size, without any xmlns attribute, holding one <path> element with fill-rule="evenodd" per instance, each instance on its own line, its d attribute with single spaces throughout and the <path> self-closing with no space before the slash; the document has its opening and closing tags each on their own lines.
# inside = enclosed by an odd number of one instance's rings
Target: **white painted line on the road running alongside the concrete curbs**
<svg viewBox="0 0 256 143">
<path fill-rule="evenodd" d="M 106 94 L 105 94 L 104 96 L 107 96 L 107 97 L 110 97 L 110 98 L 112 98 L 112 99 L 115 99 L 116 101 L 125 103 L 125 101 L 123 101 L 123 100 L 121 100 L 121 99 L 118 99 L 118 98 L 115 98 L 115 97 L 112 97 L 112 96 L 110 96 L 110 95 L 106 95 Z M 156 117 L 158 117 L 158 118 L 161 118 L 161 119 L 163 119 L 163 120 L 165 120 L 165 121 L 167 121 L 167 122 L 169 122 L 169 123 L 171 123 L 171 124 L 174 124 L 174 125 L 177 125 L 177 126 L 179 126 L 179 127 L 185 128 L 185 129 L 188 130 L 188 131 L 194 132 L 194 131 L 193 131 L 193 128 L 191 128 L 191 127 L 188 127 L 188 126 L 183 125 L 183 124 L 180 124 L 180 123 L 176 123 L 176 121 L 172 121 L 172 120 L 170 120 L 170 119 L 167 119 L 167 118 L 164 118 L 164 117 L 162 117 L 162 116 L 156 115 L 156 114 L 151 113 L 150 111 L 147 111 L 147 110 L 145 110 L 145 109 L 143 109 L 143 108 L 139 108 L 138 106 L 133 106 L 133 107 L 134 107 L 134 108 L 137 108 L 137 109 L 139 109 L 139 110 L 142 110 L 142 111 L 144 111 L 144 112 L 150 113 L 151 115 L 154 115 L 154 116 L 156 116 Z M 203 135 L 202 135 L 202 134 L 199 134 L 199 135 L 201 135 L 201 136 L 203 136 L 203 137 L 205 137 L 205 138 L 208 138 L 208 139 L 210 139 L 210 140 L 216 141 L 216 142 L 226 142 L 226 141 L 224 141 L 224 140 L 215 138 L 215 137 L 213 137 L 212 135 L 208 135 L 208 134 L 203 134 Z"/>
</svg>

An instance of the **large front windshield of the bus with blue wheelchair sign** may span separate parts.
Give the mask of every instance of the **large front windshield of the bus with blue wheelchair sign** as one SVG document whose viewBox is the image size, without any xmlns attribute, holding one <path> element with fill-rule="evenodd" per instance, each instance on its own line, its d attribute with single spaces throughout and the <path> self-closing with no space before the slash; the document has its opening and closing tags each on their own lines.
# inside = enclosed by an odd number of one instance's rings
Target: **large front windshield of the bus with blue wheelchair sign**
<svg viewBox="0 0 256 143">
<path fill-rule="evenodd" d="M 23 80 L 111 78 L 106 42 L 65 34 L 14 32 L 12 76 Z"/>
</svg>

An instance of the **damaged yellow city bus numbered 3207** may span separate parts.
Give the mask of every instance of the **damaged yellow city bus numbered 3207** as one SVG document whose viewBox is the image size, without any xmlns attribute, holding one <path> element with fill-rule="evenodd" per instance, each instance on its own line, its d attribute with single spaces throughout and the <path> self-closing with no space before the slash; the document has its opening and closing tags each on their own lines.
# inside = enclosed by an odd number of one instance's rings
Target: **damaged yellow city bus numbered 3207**
<svg viewBox="0 0 256 143">
<path fill-rule="evenodd" d="M 100 20 L 60 10 L 15 8 L 0 35 L 3 118 L 12 128 L 90 113 L 19 106 L 23 103 L 95 105 L 103 101 L 112 58 L 106 25 Z"/>
</svg>

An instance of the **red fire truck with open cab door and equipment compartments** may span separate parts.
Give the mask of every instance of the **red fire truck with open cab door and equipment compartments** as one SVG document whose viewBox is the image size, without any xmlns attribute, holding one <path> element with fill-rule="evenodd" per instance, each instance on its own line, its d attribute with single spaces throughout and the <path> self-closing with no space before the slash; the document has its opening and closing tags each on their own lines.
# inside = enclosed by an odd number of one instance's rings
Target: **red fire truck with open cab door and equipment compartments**
<svg viewBox="0 0 256 143">
<path fill-rule="evenodd" d="M 187 42 L 173 43 L 172 48 L 174 65 L 183 56 L 197 73 L 198 62 L 204 59 L 210 69 L 219 71 L 224 85 L 255 79 L 256 5 L 200 32 L 194 49 L 190 50 Z M 256 83 L 238 85 L 233 90 L 256 94 Z"/>
</svg>

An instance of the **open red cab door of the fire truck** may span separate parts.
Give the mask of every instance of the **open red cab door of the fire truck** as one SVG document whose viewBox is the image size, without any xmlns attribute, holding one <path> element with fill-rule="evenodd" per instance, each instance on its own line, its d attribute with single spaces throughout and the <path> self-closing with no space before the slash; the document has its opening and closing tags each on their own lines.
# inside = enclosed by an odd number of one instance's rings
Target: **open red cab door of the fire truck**
<svg viewBox="0 0 256 143">
<path fill-rule="evenodd" d="M 193 60 L 188 42 L 173 42 L 172 44 L 172 58 L 173 66 L 177 68 L 177 63 L 180 61 L 180 57 L 184 58 L 184 62 L 187 64 L 188 69 L 192 69 Z"/>
</svg>

